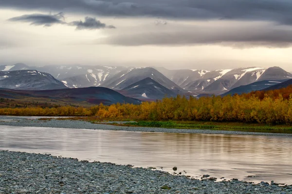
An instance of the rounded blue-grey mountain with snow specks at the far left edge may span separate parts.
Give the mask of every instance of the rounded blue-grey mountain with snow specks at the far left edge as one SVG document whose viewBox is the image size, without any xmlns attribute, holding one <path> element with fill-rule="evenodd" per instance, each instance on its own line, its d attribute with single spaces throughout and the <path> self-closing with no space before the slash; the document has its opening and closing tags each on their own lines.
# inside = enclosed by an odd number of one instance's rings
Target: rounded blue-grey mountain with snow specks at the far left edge
<svg viewBox="0 0 292 194">
<path fill-rule="evenodd" d="M 52 90 L 67 88 L 48 73 L 37 70 L 0 71 L 0 88 Z"/>
</svg>

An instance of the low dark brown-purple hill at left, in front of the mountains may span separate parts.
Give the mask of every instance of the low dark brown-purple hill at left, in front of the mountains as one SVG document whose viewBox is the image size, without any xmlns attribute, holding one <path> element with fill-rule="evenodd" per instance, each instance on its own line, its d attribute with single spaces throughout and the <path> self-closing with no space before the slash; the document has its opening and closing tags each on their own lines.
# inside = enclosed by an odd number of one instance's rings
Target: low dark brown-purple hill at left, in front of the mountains
<svg viewBox="0 0 292 194">
<path fill-rule="evenodd" d="M 59 90 L 10 90 L 10 89 L 0 89 L 0 97 L 2 98 L 47 98 L 55 100 L 64 100 L 68 102 L 78 102 L 86 101 L 90 104 L 100 104 L 105 105 L 115 104 L 115 103 L 130 103 L 130 104 L 140 104 L 141 101 L 131 97 L 125 97 L 120 93 L 113 91 L 109 88 L 103 87 L 89 87 L 89 88 L 67 88 Z"/>
</svg>

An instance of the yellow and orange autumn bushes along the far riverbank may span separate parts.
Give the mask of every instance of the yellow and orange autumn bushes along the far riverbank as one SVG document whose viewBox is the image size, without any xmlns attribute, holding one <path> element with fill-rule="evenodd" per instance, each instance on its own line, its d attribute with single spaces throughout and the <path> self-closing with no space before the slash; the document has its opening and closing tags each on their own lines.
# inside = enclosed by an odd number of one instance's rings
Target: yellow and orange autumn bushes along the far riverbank
<svg viewBox="0 0 292 194">
<path fill-rule="evenodd" d="M 2 108 L 1 115 L 91 116 L 91 120 L 212 121 L 292 124 L 292 86 L 226 97 L 171 97 L 140 105 L 102 104 L 84 107 Z"/>
</svg>

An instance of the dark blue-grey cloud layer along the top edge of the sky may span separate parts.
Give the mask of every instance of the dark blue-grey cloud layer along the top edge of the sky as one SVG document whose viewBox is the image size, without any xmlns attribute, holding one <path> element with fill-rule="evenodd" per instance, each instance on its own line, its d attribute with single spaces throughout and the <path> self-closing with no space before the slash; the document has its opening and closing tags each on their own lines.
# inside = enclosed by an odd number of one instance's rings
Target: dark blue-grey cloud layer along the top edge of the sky
<svg viewBox="0 0 292 194">
<path fill-rule="evenodd" d="M 0 0 L 0 7 L 103 16 L 264 20 L 292 25 L 291 0 Z"/>
</svg>

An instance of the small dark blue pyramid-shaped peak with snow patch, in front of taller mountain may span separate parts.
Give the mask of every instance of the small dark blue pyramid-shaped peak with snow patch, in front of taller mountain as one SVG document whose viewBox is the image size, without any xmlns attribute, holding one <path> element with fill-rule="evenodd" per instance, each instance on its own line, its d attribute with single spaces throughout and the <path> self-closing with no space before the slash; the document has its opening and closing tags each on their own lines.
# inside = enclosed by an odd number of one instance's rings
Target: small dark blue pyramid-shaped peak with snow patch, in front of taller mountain
<svg viewBox="0 0 292 194">
<path fill-rule="evenodd" d="M 176 97 L 177 93 L 167 89 L 151 78 L 137 81 L 119 91 L 121 94 L 138 99 L 162 99 Z"/>
</svg>

